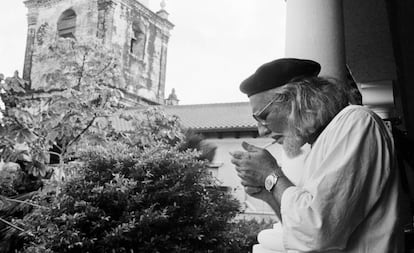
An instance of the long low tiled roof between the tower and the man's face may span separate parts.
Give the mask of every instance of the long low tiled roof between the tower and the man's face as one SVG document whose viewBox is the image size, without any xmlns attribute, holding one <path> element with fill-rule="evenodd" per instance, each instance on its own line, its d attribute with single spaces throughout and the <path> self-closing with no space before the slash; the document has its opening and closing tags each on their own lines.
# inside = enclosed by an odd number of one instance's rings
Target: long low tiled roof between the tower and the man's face
<svg viewBox="0 0 414 253">
<path fill-rule="evenodd" d="M 234 131 L 256 130 L 256 122 L 251 116 L 249 103 L 217 103 L 163 106 L 169 115 L 180 118 L 184 127 L 196 131 Z M 136 114 L 142 109 L 129 109 L 125 115 Z M 113 126 L 118 130 L 131 130 L 131 123 L 112 117 Z"/>
</svg>

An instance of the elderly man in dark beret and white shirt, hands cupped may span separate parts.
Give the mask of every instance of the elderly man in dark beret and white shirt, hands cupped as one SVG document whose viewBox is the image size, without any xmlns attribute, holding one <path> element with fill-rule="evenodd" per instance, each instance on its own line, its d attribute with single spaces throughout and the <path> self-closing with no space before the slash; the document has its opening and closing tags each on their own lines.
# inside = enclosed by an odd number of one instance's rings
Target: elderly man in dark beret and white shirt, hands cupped
<svg viewBox="0 0 414 253">
<path fill-rule="evenodd" d="M 244 142 L 244 151 L 232 153 L 241 183 L 274 209 L 284 250 L 402 252 L 392 136 L 319 71 L 314 61 L 279 59 L 242 82 L 261 136 L 290 157 L 305 143 L 311 150 L 294 185 L 267 150 Z"/>
</svg>

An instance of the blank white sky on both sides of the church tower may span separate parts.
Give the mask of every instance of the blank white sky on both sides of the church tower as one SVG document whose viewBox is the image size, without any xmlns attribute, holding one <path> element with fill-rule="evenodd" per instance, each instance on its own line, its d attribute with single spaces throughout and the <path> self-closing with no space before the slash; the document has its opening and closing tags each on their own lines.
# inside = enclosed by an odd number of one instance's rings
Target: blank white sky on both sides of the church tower
<svg viewBox="0 0 414 253">
<path fill-rule="evenodd" d="M 1 0 L 0 73 L 22 73 L 27 33 L 23 0 Z M 261 64 L 284 56 L 283 0 L 166 0 L 174 24 L 166 96 L 180 104 L 248 101 L 239 84 Z M 158 11 L 160 0 L 149 0 Z"/>
</svg>

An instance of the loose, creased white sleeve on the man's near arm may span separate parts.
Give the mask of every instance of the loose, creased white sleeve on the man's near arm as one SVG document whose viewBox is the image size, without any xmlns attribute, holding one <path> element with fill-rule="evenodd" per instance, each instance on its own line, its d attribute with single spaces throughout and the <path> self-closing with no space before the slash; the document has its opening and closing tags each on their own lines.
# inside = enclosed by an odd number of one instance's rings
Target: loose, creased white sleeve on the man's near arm
<svg viewBox="0 0 414 253">
<path fill-rule="evenodd" d="M 390 175 L 393 144 L 383 123 L 366 110 L 351 110 L 328 125 L 315 143 L 317 162 L 302 187 L 281 200 L 288 250 L 345 249 L 380 198 Z M 308 164 L 306 164 L 308 166 Z"/>
</svg>

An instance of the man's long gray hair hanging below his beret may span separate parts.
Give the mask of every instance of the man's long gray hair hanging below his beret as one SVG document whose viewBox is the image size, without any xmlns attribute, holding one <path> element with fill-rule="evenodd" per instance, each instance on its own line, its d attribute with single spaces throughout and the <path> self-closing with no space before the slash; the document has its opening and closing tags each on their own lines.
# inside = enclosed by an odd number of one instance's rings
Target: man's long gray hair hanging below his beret
<svg viewBox="0 0 414 253">
<path fill-rule="evenodd" d="M 278 88 L 274 108 L 287 116 L 291 134 L 309 138 L 352 102 L 345 85 L 322 77 L 294 81 Z"/>
</svg>

